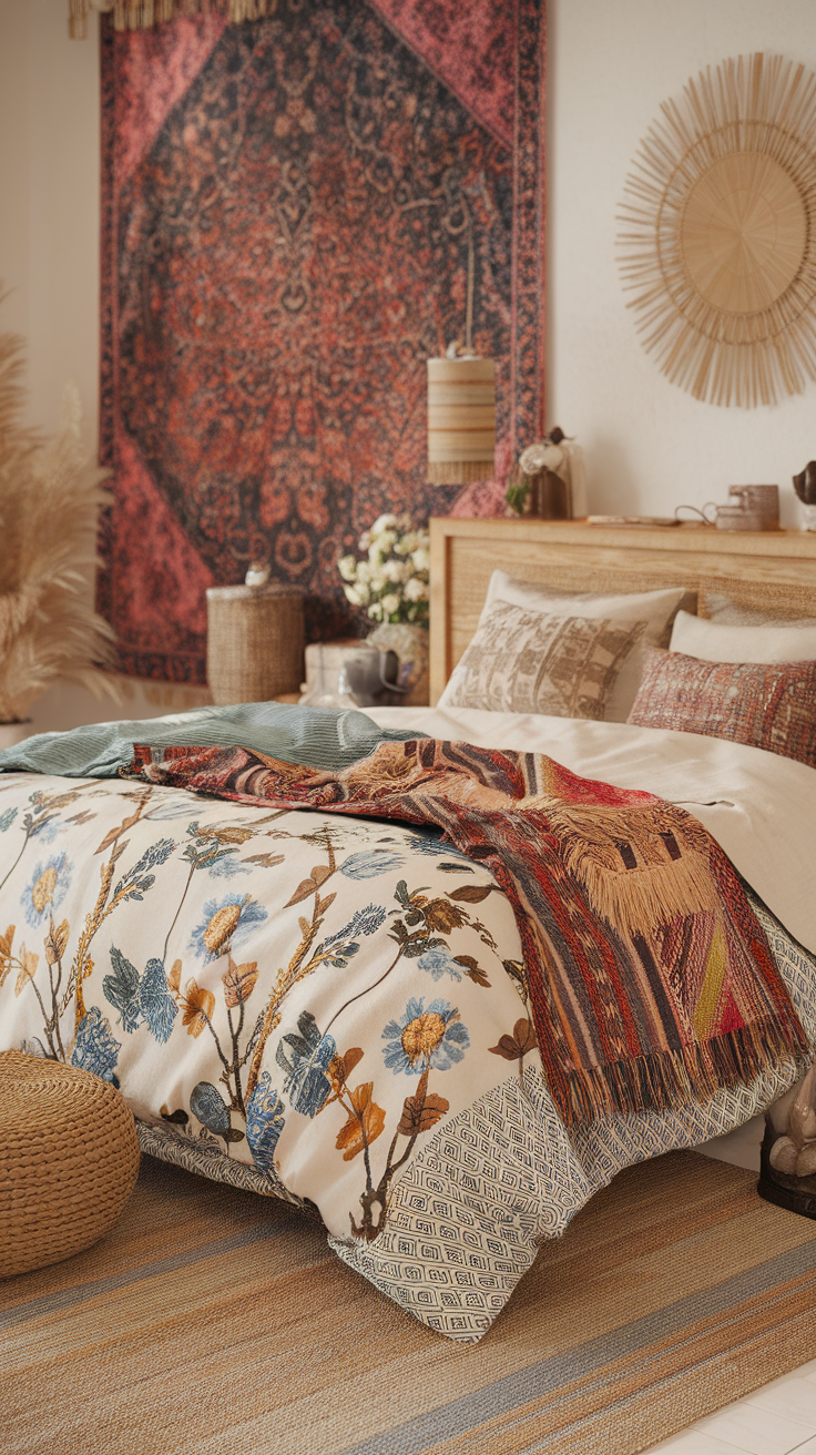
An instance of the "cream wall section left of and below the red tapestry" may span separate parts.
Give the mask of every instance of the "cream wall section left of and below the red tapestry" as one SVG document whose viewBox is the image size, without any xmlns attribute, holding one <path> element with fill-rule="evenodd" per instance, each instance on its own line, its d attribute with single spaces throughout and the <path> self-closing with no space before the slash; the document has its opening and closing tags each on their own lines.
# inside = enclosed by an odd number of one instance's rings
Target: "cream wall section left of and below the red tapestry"
<svg viewBox="0 0 816 1455">
<path fill-rule="evenodd" d="M 79 386 L 89 454 L 99 394 L 99 38 L 68 39 L 67 0 L 0 0 L 0 330 L 28 346 L 28 418 L 54 431 L 65 380 Z M 1 549 L 1 540 L 0 540 Z M 196 706 L 204 690 L 124 684 L 125 701 L 79 687 L 47 693 L 38 732 Z"/>
</svg>

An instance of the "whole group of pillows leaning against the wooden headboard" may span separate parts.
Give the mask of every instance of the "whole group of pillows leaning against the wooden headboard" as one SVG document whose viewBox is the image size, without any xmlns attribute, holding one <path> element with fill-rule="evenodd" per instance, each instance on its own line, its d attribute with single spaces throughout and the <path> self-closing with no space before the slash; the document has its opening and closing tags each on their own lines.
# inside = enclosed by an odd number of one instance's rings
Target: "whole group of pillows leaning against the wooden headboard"
<svg viewBox="0 0 816 1455">
<path fill-rule="evenodd" d="M 495 570 L 439 707 L 703 733 L 816 767 L 816 618 L 713 592 L 703 618 L 684 599 L 682 586 L 554 592 Z"/>
</svg>

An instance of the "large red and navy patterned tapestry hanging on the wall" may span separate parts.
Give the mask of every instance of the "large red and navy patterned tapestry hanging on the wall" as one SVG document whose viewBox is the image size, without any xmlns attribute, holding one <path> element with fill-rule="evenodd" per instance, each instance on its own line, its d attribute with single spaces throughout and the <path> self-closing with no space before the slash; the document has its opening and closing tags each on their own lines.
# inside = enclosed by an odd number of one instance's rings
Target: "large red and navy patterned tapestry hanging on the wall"
<svg viewBox="0 0 816 1455">
<path fill-rule="evenodd" d="M 492 515 L 543 426 L 544 0 L 278 0 L 102 25 L 99 608 L 205 681 L 205 589 L 266 557 L 307 633 L 384 511 Z M 425 361 L 497 361 L 497 477 L 431 487 Z"/>
</svg>

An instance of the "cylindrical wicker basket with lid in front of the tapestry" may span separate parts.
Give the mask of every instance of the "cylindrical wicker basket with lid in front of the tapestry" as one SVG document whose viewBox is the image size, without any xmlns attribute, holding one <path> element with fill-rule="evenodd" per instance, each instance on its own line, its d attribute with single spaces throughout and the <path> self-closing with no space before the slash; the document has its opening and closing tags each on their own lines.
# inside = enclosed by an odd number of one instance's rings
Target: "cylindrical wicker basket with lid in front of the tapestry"
<svg viewBox="0 0 816 1455">
<path fill-rule="evenodd" d="M 303 595 L 294 586 L 211 586 L 207 679 L 212 700 L 265 703 L 303 681 Z"/>
</svg>

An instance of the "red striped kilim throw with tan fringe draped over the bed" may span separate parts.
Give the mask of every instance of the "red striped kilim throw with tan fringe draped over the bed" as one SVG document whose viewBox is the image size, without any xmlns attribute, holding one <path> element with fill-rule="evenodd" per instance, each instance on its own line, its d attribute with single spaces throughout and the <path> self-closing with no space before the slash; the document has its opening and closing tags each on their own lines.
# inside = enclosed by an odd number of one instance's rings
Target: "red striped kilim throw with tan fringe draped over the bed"
<svg viewBox="0 0 816 1455">
<path fill-rule="evenodd" d="M 543 754 L 381 744 L 339 773 L 246 748 L 135 748 L 134 773 L 243 803 L 442 828 L 487 864 L 521 931 L 544 1071 L 569 1123 L 755 1077 L 806 1039 L 742 883 L 650 793 Z"/>
</svg>

